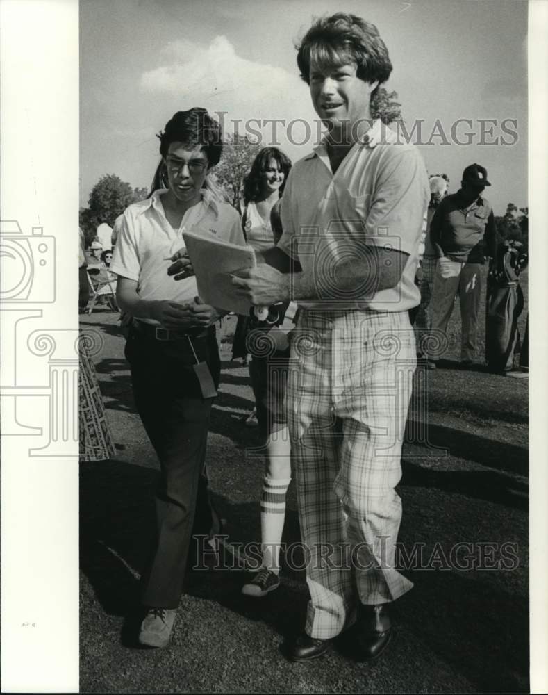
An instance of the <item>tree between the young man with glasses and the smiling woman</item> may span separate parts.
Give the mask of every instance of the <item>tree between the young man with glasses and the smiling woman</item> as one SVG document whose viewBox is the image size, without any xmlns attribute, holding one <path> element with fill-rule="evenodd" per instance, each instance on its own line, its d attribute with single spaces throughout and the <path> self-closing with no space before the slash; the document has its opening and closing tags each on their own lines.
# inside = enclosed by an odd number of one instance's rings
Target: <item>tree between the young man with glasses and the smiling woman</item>
<svg viewBox="0 0 548 695">
<path fill-rule="evenodd" d="M 221 161 L 212 171 L 213 179 L 224 189 L 233 206 L 238 208 L 244 178 L 249 174 L 260 145 L 248 136 L 229 134 L 223 143 Z"/>
</svg>

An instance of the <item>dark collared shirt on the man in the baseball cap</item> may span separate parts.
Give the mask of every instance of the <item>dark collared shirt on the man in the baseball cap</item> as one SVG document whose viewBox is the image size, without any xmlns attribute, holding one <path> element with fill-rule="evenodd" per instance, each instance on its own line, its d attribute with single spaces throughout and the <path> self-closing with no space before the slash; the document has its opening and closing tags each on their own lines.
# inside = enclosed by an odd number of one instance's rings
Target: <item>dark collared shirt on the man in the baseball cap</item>
<svg viewBox="0 0 548 695">
<path fill-rule="evenodd" d="M 494 257 L 497 228 L 490 202 L 480 195 L 466 207 L 460 191 L 446 195 L 433 215 L 430 239 L 453 261 L 483 263 L 485 255 Z"/>
</svg>

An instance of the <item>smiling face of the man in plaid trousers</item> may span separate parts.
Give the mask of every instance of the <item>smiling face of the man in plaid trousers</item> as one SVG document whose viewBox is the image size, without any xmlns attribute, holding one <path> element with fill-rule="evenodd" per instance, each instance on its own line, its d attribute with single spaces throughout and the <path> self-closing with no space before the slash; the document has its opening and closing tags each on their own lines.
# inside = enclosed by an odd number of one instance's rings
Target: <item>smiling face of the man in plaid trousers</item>
<svg viewBox="0 0 548 695">
<path fill-rule="evenodd" d="M 356 76 L 356 63 L 310 63 L 310 96 L 314 109 L 329 131 L 354 133 L 356 124 L 370 118 L 371 92 L 378 82 Z"/>
</svg>

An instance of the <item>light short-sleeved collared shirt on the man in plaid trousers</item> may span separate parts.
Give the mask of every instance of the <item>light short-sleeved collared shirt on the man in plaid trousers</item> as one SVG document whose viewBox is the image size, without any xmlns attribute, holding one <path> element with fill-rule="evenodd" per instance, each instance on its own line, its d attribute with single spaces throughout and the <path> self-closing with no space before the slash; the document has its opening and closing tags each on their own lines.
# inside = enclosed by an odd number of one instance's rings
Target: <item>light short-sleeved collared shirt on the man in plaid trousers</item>
<svg viewBox="0 0 548 695">
<path fill-rule="evenodd" d="M 401 279 L 355 309 L 406 311 L 420 302 L 415 286 L 419 246 L 430 187 L 424 162 L 413 145 L 376 120 L 362 142 L 356 142 L 331 170 L 324 143 L 292 168 L 281 202 L 283 236 L 279 247 L 316 274 L 322 301 L 299 302 L 306 308 L 348 308 L 342 293 L 329 286 L 329 269 L 340 263 L 367 260 L 366 247 L 408 254 Z M 367 278 L 364 278 L 367 287 Z M 337 296 L 341 297 L 337 300 Z"/>
</svg>

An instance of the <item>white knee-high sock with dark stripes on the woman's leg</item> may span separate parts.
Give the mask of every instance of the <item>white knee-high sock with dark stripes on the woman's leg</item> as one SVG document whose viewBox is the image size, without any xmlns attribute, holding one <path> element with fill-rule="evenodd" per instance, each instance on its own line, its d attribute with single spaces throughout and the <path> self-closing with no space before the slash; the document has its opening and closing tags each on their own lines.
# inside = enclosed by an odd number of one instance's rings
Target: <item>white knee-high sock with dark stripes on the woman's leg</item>
<svg viewBox="0 0 548 695">
<path fill-rule="evenodd" d="M 276 574 L 280 571 L 280 544 L 285 521 L 285 493 L 291 478 L 265 475 L 260 496 L 260 532 L 263 540 L 263 567 Z"/>
</svg>

